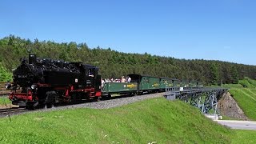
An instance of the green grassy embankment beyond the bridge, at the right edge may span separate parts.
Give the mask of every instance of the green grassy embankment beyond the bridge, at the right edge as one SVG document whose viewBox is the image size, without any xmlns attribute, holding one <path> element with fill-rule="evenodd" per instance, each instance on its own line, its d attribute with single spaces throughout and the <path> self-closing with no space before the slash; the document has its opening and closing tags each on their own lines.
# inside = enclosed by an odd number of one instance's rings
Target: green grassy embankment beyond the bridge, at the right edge
<svg viewBox="0 0 256 144">
<path fill-rule="evenodd" d="M 246 116 L 256 121 L 256 81 L 245 78 L 237 85 L 224 86 L 230 88 L 230 94 L 238 102 L 238 106 L 242 108 Z"/>
</svg>

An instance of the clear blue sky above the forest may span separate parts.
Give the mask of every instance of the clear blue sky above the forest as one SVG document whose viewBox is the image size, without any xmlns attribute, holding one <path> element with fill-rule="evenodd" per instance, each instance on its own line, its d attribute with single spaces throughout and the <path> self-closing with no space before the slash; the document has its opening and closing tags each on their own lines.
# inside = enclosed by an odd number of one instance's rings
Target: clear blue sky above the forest
<svg viewBox="0 0 256 144">
<path fill-rule="evenodd" d="M 0 1 L 0 38 L 256 65 L 256 1 Z"/>
</svg>

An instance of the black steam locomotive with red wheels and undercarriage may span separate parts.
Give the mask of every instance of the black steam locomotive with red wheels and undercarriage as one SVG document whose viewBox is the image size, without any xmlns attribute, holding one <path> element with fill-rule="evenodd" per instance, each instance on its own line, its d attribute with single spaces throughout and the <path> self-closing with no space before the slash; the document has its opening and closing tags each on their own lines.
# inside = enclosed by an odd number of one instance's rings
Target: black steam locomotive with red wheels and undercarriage
<svg viewBox="0 0 256 144">
<path fill-rule="evenodd" d="M 10 99 L 14 105 L 28 108 L 51 107 L 62 102 L 97 99 L 101 96 L 100 84 L 96 66 L 40 59 L 29 54 L 29 60 L 23 58 L 14 70 Z"/>
</svg>

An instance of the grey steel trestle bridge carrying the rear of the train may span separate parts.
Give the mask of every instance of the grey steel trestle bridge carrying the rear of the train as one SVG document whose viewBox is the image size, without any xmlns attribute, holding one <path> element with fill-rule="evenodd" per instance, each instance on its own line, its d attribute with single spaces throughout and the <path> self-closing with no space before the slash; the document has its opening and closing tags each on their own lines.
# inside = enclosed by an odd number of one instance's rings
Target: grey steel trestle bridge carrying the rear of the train
<svg viewBox="0 0 256 144">
<path fill-rule="evenodd" d="M 177 89 L 174 87 L 166 88 L 164 97 L 169 100 L 179 99 L 194 107 L 198 107 L 203 114 L 218 114 L 217 110 L 218 99 L 222 97 L 227 89 L 222 88 L 183 88 Z"/>
</svg>

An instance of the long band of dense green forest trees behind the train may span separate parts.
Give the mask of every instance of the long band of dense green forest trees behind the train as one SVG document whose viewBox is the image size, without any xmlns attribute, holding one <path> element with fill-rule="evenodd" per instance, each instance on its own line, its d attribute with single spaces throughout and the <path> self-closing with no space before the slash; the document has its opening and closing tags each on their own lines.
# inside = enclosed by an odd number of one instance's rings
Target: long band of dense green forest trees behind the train
<svg viewBox="0 0 256 144">
<path fill-rule="evenodd" d="M 256 66 L 203 59 L 178 59 L 152 54 L 126 54 L 110 48 L 89 48 L 86 43 L 31 41 L 10 35 L 0 39 L 0 81 L 11 80 L 11 71 L 27 58 L 28 51 L 38 58 L 84 62 L 99 67 L 102 78 L 126 74 L 197 80 L 205 84 L 238 83 L 244 77 L 256 79 Z"/>
</svg>

